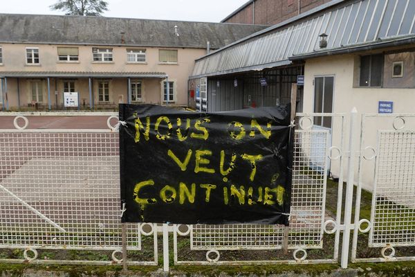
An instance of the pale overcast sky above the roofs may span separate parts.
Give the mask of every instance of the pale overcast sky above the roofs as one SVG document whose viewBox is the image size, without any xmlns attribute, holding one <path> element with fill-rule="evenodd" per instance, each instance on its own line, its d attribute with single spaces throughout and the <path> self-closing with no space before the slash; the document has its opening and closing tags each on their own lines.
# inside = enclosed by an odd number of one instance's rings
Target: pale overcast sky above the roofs
<svg viewBox="0 0 415 277">
<path fill-rule="evenodd" d="M 219 22 L 248 0 L 107 0 L 106 17 Z M 56 0 L 0 0 L 0 12 L 64 15 L 50 10 Z"/>
</svg>

